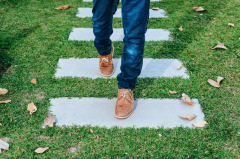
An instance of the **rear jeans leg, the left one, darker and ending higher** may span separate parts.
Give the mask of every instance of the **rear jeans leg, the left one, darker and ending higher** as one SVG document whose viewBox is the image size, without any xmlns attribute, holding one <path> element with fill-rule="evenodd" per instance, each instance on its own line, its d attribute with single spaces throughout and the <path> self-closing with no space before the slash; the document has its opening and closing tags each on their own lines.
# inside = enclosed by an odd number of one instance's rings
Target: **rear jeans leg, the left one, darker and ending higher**
<svg viewBox="0 0 240 159">
<path fill-rule="evenodd" d="M 93 33 L 94 46 L 102 56 L 111 53 L 110 36 L 113 33 L 112 19 L 118 0 L 93 0 Z"/>
</svg>

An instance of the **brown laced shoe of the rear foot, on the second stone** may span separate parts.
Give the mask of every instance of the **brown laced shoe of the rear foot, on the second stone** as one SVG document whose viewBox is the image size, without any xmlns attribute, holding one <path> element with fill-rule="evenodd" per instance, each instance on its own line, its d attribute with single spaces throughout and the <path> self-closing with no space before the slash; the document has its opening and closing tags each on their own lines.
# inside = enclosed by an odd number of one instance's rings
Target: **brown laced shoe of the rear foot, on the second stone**
<svg viewBox="0 0 240 159">
<path fill-rule="evenodd" d="M 104 77 L 110 77 L 114 72 L 114 65 L 112 61 L 113 53 L 114 53 L 114 47 L 112 45 L 112 51 L 109 55 L 106 55 L 106 56 L 100 55 L 99 69 L 100 69 L 101 75 Z"/>
</svg>

